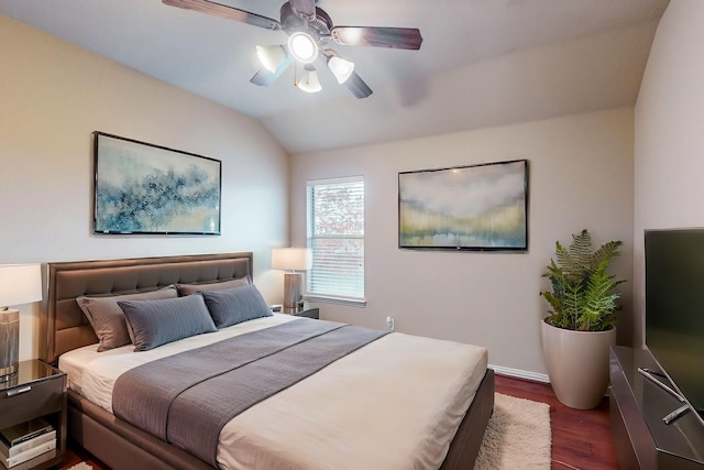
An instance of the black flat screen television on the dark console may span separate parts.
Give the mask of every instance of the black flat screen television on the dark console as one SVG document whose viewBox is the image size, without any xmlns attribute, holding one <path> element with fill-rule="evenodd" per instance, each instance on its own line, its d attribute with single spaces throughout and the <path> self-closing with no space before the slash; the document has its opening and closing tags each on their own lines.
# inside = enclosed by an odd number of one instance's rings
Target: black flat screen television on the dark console
<svg viewBox="0 0 704 470">
<path fill-rule="evenodd" d="M 704 229 L 646 230 L 646 346 L 704 426 Z"/>
</svg>

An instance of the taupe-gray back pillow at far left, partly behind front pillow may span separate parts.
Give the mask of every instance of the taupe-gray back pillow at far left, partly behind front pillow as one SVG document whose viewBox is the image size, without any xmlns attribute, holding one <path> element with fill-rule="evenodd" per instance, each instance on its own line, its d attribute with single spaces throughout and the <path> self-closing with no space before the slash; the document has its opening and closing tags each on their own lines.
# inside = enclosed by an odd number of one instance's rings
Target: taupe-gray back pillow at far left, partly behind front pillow
<svg viewBox="0 0 704 470">
<path fill-rule="evenodd" d="M 176 298 L 178 292 L 175 285 L 158 291 L 140 294 L 116 295 L 110 297 L 80 296 L 76 303 L 84 310 L 90 326 L 98 337 L 98 351 L 119 348 L 130 343 L 128 326 L 124 321 L 124 313 L 118 305 L 118 300 L 153 300 L 158 298 Z"/>
</svg>

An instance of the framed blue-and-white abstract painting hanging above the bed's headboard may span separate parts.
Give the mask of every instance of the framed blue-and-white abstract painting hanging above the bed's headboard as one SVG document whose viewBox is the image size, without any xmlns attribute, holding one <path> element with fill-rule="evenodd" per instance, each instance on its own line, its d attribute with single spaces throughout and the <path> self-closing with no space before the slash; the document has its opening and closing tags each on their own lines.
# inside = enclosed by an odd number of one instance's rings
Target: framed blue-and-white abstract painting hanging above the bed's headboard
<svg viewBox="0 0 704 470">
<path fill-rule="evenodd" d="M 95 234 L 220 234 L 219 160 L 94 132 Z"/>
</svg>

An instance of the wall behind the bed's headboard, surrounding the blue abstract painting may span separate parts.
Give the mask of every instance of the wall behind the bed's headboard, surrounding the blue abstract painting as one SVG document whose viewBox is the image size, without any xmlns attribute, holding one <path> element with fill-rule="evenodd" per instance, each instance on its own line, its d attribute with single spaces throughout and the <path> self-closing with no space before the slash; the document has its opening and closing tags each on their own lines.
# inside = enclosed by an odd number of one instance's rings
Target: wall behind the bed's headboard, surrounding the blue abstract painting
<svg viewBox="0 0 704 470">
<path fill-rule="evenodd" d="M 288 242 L 288 157 L 256 121 L 3 15 L 0 70 L 0 264 L 253 251 L 280 302 L 268 263 Z M 222 236 L 92 236 L 97 130 L 222 161 Z M 38 304 L 21 313 L 24 360 Z"/>
</svg>

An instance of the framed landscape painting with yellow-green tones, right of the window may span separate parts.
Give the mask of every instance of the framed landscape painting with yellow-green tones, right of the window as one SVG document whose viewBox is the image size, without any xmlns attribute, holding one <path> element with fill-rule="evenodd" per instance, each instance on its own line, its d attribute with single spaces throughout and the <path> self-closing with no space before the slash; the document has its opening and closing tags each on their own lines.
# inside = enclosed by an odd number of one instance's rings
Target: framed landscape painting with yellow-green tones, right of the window
<svg viewBox="0 0 704 470">
<path fill-rule="evenodd" d="M 528 161 L 398 173 L 398 248 L 528 250 Z"/>
</svg>

